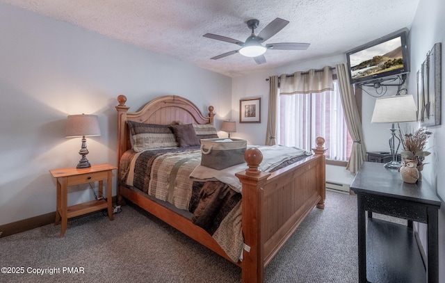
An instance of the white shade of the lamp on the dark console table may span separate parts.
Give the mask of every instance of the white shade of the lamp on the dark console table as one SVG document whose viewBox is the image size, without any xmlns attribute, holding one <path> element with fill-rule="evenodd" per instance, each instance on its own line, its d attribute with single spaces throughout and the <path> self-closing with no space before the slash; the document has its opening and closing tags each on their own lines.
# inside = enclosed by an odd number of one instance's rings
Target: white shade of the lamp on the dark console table
<svg viewBox="0 0 445 283">
<path fill-rule="evenodd" d="M 375 100 L 371 123 L 414 122 L 417 120 L 416 102 L 412 95 L 395 95 Z"/>
</svg>

